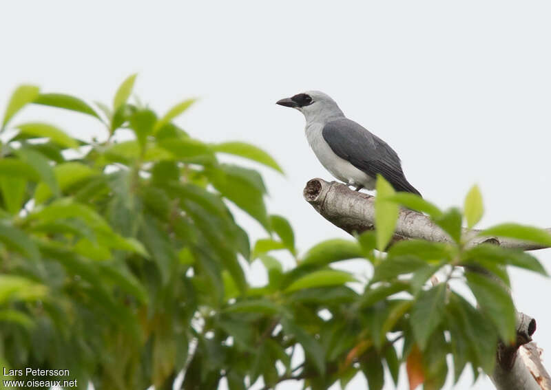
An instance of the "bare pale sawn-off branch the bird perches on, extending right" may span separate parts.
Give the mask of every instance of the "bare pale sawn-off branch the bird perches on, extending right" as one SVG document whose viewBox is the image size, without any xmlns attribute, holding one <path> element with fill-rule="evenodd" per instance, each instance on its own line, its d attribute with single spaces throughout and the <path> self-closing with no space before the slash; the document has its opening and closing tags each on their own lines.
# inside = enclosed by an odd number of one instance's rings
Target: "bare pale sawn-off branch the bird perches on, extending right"
<svg viewBox="0 0 551 390">
<path fill-rule="evenodd" d="M 331 224 L 346 232 L 364 232 L 375 228 L 375 197 L 352 191 L 338 182 L 312 179 L 304 187 L 304 199 Z M 551 232 L 551 229 L 548 229 Z M 468 238 L 473 246 L 492 240 L 504 248 L 536 250 L 547 248 L 534 243 L 497 237 L 475 237 L 480 230 L 471 230 Z M 399 213 L 394 241 L 403 239 L 424 239 L 436 242 L 451 242 L 450 237 L 429 217 L 417 211 L 402 209 Z"/>
</svg>

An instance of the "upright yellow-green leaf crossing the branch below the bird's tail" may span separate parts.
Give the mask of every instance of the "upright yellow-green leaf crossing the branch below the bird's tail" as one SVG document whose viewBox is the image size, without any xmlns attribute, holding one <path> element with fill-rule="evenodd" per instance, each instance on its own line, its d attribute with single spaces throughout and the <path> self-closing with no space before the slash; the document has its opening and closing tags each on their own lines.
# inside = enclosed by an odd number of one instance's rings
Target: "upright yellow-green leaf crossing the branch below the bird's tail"
<svg viewBox="0 0 551 390">
<path fill-rule="evenodd" d="M 377 237 L 377 250 L 384 252 L 391 241 L 398 219 L 399 206 L 394 202 L 388 202 L 386 197 L 395 194 L 391 184 L 377 175 L 377 197 L 375 197 L 375 227 Z"/>
</svg>

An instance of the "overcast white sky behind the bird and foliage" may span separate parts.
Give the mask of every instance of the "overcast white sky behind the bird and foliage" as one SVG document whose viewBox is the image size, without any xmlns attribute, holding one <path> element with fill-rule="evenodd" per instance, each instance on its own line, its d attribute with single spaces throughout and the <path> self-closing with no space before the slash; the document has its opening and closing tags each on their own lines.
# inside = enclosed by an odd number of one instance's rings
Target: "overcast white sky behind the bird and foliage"
<svg viewBox="0 0 551 390">
<path fill-rule="evenodd" d="M 307 180 L 331 175 L 309 149 L 300 113 L 274 103 L 319 89 L 391 144 L 427 199 L 461 205 L 478 183 L 481 226 L 551 226 L 550 19 L 548 1 L 5 1 L 0 111 L 23 82 L 111 102 L 132 72 L 138 95 L 160 111 L 199 96 L 178 122 L 202 140 L 269 151 L 287 172 L 262 170 L 269 210 L 291 219 L 306 250 L 346 234 L 302 199 Z M 104 136 L 76 113 L 33 107 L 14 122 L 25 118 Z M 537 256 L 551 270 L 551 252 Z M 259 270 L 251 273 L 258 283 Z M 526 272 L 512 272 L 512 281 L 550 362 L 551 283 Z M 464 376 L 457 388 L 470 382 Z M 349 385 L 364 387 L 359 377 Z M 487 379 L 476 386 L 490 388 Z"/>
</svg>

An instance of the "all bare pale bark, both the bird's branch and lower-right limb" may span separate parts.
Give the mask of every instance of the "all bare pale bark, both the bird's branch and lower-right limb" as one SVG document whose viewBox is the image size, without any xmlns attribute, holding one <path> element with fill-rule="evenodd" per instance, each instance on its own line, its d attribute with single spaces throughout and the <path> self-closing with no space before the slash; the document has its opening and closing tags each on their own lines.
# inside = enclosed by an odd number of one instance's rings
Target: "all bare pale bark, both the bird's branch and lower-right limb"
<svg viewBox="0 0 551 390">
<path fill-rule="evenodd" d="M 306 183 L 304 199 L 331 224 L 350 234 L 375 228 L 375 197 L 372 195 L 352 191 L 342 183 L 315 178 Z M 477 237 L 478 233 L 479 230 L 466 232 L 470 235 L 470 245 L 490 241 L 504 248 L 547 248 L 512 239 Z M 429 217 L 408 209 L 399 212 L 393 241 L 404 239 L 452 241 Z M 498 390 L 551 390 L 551 378 L 541 364 L 541 350 L 532 342 L 535 330 L 534 318 L 517 313 L 517 343 L 500 344 L 497 350 L 497 365 L 491 379 Z"/>
</svg>

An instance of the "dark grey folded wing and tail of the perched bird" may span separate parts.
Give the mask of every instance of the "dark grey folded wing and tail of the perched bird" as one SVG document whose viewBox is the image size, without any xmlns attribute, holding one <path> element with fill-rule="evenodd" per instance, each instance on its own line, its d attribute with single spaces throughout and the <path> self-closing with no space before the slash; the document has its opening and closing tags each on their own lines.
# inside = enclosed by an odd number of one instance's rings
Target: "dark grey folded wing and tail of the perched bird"
<svg viewBox="0 0 551 390">
<path fill-rule="evenodd" d="M 324 126 L 322 136 L 336 155 L 360 171 L 371 177 L 379 173 L 396 191 L 420 195 L 406 180 L 396 152 L 360 124 L 346 118 L 332 120 Z"/>
</svg>

